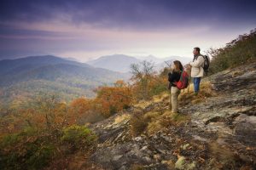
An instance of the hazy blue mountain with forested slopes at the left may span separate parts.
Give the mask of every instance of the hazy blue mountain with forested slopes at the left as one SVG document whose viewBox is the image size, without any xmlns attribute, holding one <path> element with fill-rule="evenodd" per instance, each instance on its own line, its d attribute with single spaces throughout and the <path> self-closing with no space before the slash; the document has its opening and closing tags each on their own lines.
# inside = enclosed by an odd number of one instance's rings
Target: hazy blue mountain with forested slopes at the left
<svg viewBox="0 0 256 170">
<path fill-rule="evenodd" d="M 4 59 L 0 60 L 0 105 L 39 93 L 60 94 L 64 100 L 94 97 L 97 86 L 128 78 L 128 74 L 51 55 Z"/>
</svg>

